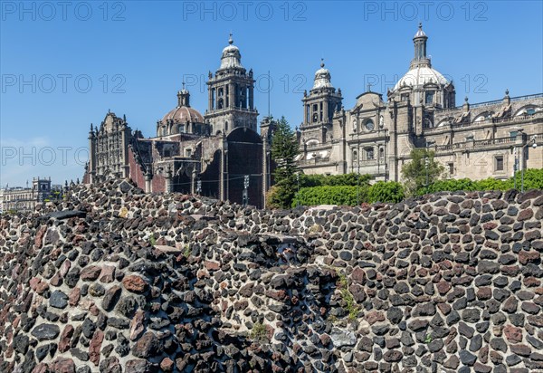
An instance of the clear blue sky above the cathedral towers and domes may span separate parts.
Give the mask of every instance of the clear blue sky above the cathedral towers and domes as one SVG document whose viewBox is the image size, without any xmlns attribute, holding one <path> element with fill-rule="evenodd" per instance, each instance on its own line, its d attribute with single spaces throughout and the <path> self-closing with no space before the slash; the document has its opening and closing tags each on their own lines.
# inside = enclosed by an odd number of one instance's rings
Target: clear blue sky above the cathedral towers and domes
<svg viewBox="0 0 543 373">
<path fill-rule="evenodd" d="M 60 3 L 60 4 L 59 4 Z M 108 110 L 153 136 L 185 78 L 191 104 L 233 33 L 257 79 L 255 104 L 300 125 L 303 90 L 324 58 L 344 106 L 408 70 L 419 22 L 457 105 L 543 91 L 541 1 L 2 1 L 0 186 L 83 174 L 90 123 Z"/>
</svg>

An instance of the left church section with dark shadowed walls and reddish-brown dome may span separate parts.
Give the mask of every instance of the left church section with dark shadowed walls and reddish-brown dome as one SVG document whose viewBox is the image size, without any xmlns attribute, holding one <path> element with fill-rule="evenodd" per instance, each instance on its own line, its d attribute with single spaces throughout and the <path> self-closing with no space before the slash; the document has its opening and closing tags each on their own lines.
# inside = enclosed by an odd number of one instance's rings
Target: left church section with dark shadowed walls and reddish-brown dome
<svg viewBox="0 0 543 373">
<path fill-rule="evenodd" d="M 91 125 L 83 181 L 128 177 L 149 193 L 175 191 L 262 207 L 270 183 L 269 136 L 257 132 L 254 79 L 241 59 L 231 35 L 219 69 L 209 72 L 205 114 L 191 107 L 184 84 L 176 107 L 157 121 L 155 137 L 146 139 L 113 112 L 99 127 Z"/>
</svg>

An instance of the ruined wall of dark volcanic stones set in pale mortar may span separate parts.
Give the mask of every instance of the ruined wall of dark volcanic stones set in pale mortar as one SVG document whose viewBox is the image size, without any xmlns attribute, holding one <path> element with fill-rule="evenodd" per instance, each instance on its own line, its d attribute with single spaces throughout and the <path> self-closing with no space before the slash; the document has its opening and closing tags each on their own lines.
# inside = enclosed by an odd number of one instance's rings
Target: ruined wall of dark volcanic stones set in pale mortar
<svg viewBox="0 0 543 373">
<path fill-rule="evenodd" d="M 541 192 L 258 211 L 128 186 L 2 216 L 0 370 L 543 368 Z"/>
</svg>

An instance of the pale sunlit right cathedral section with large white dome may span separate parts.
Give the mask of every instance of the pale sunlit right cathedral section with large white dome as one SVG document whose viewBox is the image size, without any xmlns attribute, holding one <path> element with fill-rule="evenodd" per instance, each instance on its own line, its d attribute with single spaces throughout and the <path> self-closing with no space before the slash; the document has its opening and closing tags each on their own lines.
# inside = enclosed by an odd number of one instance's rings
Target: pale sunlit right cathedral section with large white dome
<svg viewBox="0 0 543 373">
<path fill-rule="evenodd" d="M 451 81 L 433 68 L 422 24 L 409 71 L 387 91 L 368 91 L 345 110 L 341 91 L 321 63 L 303 97 L 298 131 L 305 174 L 369 174 L 401 181 L 414 148 L 428 148 L 447 177 L 508 178 L 514 169 L 543 168 L 543 94 L 455 106 Z"/>
</svg>

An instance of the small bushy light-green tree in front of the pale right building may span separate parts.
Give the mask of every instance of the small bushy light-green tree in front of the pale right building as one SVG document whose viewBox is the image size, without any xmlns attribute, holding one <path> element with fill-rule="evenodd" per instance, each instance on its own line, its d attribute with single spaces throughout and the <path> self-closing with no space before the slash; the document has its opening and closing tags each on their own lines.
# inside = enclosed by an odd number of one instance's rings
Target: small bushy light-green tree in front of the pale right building
<svg viewBox="0 0 543 373">
<path fill-rule="evenodd" d="M 432 184 L 443 174 L 444 167 L 434 159 L 434 152 L 425 148 L 411 150 L 411 161 L 402 167 L 405 190 L 413 196 L 424 186 Z"/>
</svg>

